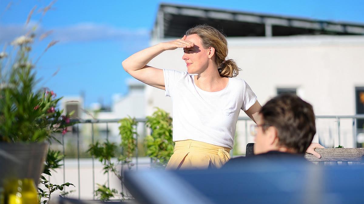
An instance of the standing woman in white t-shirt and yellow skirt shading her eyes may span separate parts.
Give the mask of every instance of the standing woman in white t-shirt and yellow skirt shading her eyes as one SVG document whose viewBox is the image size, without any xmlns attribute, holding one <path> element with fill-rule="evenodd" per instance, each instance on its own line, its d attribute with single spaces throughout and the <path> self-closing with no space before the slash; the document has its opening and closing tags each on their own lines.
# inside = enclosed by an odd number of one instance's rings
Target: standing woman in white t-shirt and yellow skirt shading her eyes
<svg viewBox="0 0 364 204">
<path fill-rule="evenodd" d="M 146 65 L 163 51 L 177 48 L 183 48 L 187 72 Z M 221 167 L 230 159 L 240 109 L 257 123 L 261 105 L 243 79 L 233 78 L 239 68 L 225 59 L 227 52 L 223 34 L 198 25 L 181 39 L 151 46 L 123 61 L 132 77 L 172 98 L 175 149 L 166 169 Z M 316 144 L 311 152 L 322 147 Z"/>
</svg>

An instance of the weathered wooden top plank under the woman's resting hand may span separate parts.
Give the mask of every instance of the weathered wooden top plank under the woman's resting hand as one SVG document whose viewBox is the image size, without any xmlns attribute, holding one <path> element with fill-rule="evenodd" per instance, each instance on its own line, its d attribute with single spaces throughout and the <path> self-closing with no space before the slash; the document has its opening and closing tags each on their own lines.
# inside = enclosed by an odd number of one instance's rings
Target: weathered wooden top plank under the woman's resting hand
<svg viewBox="0 0 364 204">
<path fill-rule="evenodd" d="M 310 162 L 360 162 L 364 155 L 364 148 L 316 148 L 315 151 L 321 155 L 320 159 L 307 153 L 305 158 Z"/>
</svg>

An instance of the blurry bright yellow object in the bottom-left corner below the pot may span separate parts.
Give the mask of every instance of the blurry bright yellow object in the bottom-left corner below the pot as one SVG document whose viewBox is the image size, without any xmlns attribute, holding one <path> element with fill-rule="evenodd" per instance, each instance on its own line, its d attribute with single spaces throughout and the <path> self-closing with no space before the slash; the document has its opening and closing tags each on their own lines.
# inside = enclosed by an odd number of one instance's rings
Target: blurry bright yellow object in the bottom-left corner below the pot
<svg viewBox="0 0 364 204">
<path fill-rule="evenodd" d="M 8 204 L 38 204 L 38 195 L 33 179 L 18 179 L 8 194 Z M 14 188 L 15 187 L 15 188 Z"/>
</svg>

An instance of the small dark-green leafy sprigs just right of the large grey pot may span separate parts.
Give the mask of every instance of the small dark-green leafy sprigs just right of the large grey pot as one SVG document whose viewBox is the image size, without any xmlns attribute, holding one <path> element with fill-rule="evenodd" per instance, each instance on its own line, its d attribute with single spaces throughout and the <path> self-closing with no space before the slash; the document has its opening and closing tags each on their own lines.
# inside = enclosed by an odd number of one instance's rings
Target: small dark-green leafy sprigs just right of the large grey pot
<svg viewBox="0 0 364 204">
<path fill-rule="evenodd" d="M 46 164 L 44 165 L 44 171 L 43 174 L 51 175 L 51 170 L 54 170 L 56 168 L 59 168 L 62 166 L 62 164 L 59 164 L 60 161 L 64 158 L 64 155 L 60 154 L 60 151 L 54 151 L 54 150 L 48 150 L 47 158 L 46 158 Z M 42 198 L 44 198 L 43 203 L 46 204 L 48 200 L 51 199 L 51 194 L 55 192 L 56 190 L 62 191 L 62 195 L 67 195 L 69 192 L 64 191 L 65 186 L 70 186 L 74 184 L 72 183 L 64 183 L 61 185 L 52 184 L 50 181 L 48 181 L 44 176 L 40 176 L 39 183 L 43 184 L 44 187 L 47 189 L 41 189 L 38 187 L 38 200 L 41 201 Z"/>
</svg>

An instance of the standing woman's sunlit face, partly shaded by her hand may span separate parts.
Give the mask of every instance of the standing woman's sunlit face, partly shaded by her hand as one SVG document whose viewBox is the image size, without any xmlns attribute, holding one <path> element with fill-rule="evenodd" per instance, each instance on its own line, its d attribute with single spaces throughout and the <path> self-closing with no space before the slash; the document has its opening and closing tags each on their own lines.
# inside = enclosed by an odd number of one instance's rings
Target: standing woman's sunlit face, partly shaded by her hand
<svg viewBox="0 0 364 204">
<path fill-rule="evenodd" d="M 201 38 L 197 34 L 187 36 L 186 40 L 194 43 L 191 48 L 183 48 L 185 54 L 182 59 L 186 62 L 187 72 L 201 74 L 209 66 L 209 49 L 203 48 Z"/>
</svg>

